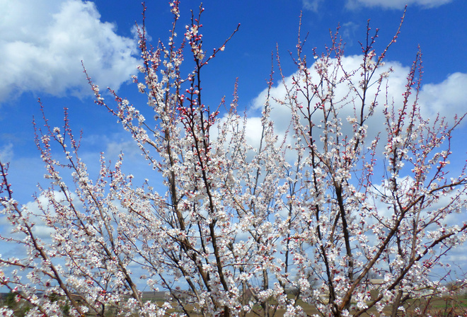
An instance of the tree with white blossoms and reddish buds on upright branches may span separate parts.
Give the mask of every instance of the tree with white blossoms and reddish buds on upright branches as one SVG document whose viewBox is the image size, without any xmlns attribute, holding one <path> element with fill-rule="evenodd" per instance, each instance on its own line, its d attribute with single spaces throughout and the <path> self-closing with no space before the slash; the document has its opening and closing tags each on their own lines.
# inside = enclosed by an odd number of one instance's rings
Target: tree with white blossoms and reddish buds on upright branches
<svg viewBox="0 0 467 317">
<path fill-rule="evenodd" d="M 202 10 L 180 45 L 178 1 L 166 44 L 150 47 L 140 28 L 144 79 L 134 83 L 154 120 L 113 91 L 115 107 L 105 103 L 88 78 L 96 103 L 132 135 L 161 186 L 134 185 L 122 156 L 110 165 L 102 155 L 92 180 L 66 111 L 61 128 L 35 125 L 50 180 L 36 198 L 40 214 L 13 199 L 8 164 L 0 164 L 1 212 L 13 226 L 1 238 L 25 250 L 24 258 L 0 258 L 1 270 L 14 269 L 0 283 L 30 303 L 28 316 L 306 316 L 309 307 L 321 316 L 397 316 L 427 289 L 446 290 L 432 271 L 466 239 L 467 224 L 449 221 L 466 209 L 465 168 L 446 169 L 463 116 L 450 127 L 422 117 L 421 54 L 399 103 L 385 96 L 384 66 L 398 32 L 376 54 L 377 31 L 371 37 L 368 28 L 355 69 L 337 33 L 323 54 L 313 50 L 311 65 L 299 37 L 297 71 L 292 82 L 282 76 L 284 98 L 268 93 L 252 146 L 236 93 L 224 114 L 203 103 L 203 69 L 230 38 L 207 53 Z M 194 63 L 186 76 L 184 54 Z M 286 134 L 275 132 L 273 104 L 289 109 Z M 377 134 L 374 117 L 384 122 Z M 35 234 L 38 223 L 50 241 Z M 142 289 L 166 299 L 147 301 Z"/>
</svg>

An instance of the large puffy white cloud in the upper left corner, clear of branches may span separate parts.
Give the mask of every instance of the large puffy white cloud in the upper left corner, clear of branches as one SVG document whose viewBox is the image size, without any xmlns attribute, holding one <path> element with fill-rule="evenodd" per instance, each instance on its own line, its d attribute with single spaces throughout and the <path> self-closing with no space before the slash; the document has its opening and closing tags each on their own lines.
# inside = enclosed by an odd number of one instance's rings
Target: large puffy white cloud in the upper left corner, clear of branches
<svg viewBox="0 0 467 317">
<path fill-rule="evenodd" d="M 134 74 L 137 43 L 100 21 L 93 2 L 0 0 L 0 102 L 27 91 L 91 94 L 81 67 L 100 86 L 118 89 Z"/>
</svg>

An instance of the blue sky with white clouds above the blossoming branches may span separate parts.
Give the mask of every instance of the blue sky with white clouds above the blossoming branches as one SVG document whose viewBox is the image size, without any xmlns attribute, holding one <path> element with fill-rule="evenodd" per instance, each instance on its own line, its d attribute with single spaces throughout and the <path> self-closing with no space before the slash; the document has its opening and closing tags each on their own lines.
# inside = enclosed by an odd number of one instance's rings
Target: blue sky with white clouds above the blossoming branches
<svg viewBox="0 0 467 317">
<path fill-rule="evenodd" d="M 340 24 L 346 55 L 353 56 L 361 53 L 358 41 L 364 40 L 369 18 L 373 30 L 380 29 L 379 47 L 391 40 L 405 3 L 408 10 L 402 32 L 387 55 L 388 62 L 396 66 L 394 76 L 405 77 L 420 45 L 427 113 L 465 113 L 465 0 L 204 1 L 204 47 L 219 47 L 241 23 L 226 50 L 205 70 L 204 98 L 212 105 L 219 104 L 222 96 L 229 100 L 238 78 L 240 107 L 254 113 L 257 97 L 264 95 L 276 44 L 284 75 L 294 72 L 288 50 L 295 50 L 301 11 L 302 31 L 309 32 L 305 52 L 311 54 L 313 47 L 322 52 L 330 43 L 329 30 Z M 189 23 L 190 8 L 196 11 L 199 5 L 198 1 L 182 1 L 180 35 Z M 168 1 L 147 1 L 146 6 L 149 35 L 153 40 L 166 40 L 172 21 Z M 134 147 L 120 125 L 93 103 L 81 60 L 100 87 L 110 86 L 135 105 L 144 106 L 144 96 L 128 81 L 139 63 L 134 23 L 142 21 L 141 13 L 140 1 L 133 0 L 0 0 L 0 157 L 11 161 L 10 181 L 21 203 L 32 200 L 35 185 L 47 185 L 31 124 L 33 116 L 41 116 L 38 98 L 51 125 L 62 125 L 62 109 L 69 108 L 76 134 L 83 129 L 81 154 L 91 173 L 98 166 L 100 151 L 115 158 L 121 149 L 126 150 L 127 162 L 137 164 L 139 156 L 132 153 Z M 464 124 L 455 139 L 459 161 L 466 158 L 466 139 Z"/>
</svg>

